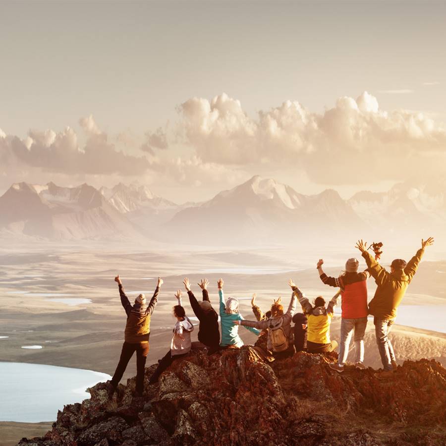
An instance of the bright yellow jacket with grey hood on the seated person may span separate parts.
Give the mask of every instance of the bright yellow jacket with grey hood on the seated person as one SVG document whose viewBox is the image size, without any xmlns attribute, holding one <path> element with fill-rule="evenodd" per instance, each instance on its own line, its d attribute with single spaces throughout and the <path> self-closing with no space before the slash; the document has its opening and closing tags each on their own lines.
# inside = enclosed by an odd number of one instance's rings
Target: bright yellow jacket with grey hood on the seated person
<svg viewBox="0 0 446 446">
<path fill-rule="evenodd" d="M 310 301 L 305 297 L 305 294 L 299 288 L 294 287 L 293 290 L 297 293 L 297 299 L 302 306 L 302 310 L 307 315 L 307 341 L 315 344 L 329 344 L 330 339 L 330 325 L 337 305 L 339 293 L 333 296 L 332 300 L 327 305 L 314 307 Z"/>
</svg>

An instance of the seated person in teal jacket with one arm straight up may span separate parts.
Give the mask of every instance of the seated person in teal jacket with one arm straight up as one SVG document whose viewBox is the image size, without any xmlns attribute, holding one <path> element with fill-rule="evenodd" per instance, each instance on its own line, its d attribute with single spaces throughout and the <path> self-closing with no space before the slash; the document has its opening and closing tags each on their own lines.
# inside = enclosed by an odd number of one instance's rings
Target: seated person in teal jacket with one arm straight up
<svg viewBox="0 0 446 446">
<path fill-rule="evenodd" d="M 243 316 L 238 312 L 238 300 L 235 297 L 229 297 L 226 303 L 223 295 L 223 279 L 219 279 L 217 285 L 219 287 L 220 296 L 220 323 L 222 326 L 222 348 L 240 348 L 243 345 L 241 337 L 238 335 L 238 325 L 234 325 L 234 321 L 243 321 Z M 252 327 L 245 327 L 246 330 L 260 335 L 260 330 Z"/>
</svg>

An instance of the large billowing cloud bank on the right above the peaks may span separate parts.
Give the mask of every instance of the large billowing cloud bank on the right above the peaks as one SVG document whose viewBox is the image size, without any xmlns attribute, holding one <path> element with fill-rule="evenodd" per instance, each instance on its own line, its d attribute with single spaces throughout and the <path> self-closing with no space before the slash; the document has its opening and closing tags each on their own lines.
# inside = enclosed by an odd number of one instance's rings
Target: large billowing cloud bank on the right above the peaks
<svg viewBox="0 0 446 446">
<path fill-rule="evenodd" d="M 373 95 L 342 97 L 323 113 L 297 101 L 255 119 L 226 94 L 178 108 L 186 142 L 203 163 L 305 171 L 312 181 L 399 180 L 445 160 L 446 132 L 420 112 L 383 111 Z"/>
</svg>

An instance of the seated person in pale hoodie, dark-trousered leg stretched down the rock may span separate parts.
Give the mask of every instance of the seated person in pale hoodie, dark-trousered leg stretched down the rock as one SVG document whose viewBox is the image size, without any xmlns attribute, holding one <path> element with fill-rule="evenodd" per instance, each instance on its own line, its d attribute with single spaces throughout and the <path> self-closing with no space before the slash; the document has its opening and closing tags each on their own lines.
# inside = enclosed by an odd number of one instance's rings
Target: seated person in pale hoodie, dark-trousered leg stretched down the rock
<svg viewBox="0 0 446 446">
<path fill-rule="evenodd" d="M 173 307 L 173 316 L 176 318 L 176 324 L 173 327 L 170 350 L 158 361 L 158 367 L 150 377 L 149 384 L 158 383 L 160 375 L 167 369 L 167 367 L 174 360 L 184 358 L 192 348 L 190 334 L 194 330 L 194 326 L 186 316 L 186 312 L 184 311 L 181 302 L 181 295 L 181 290 L 177 290 L 175 297 L 178 303 Z"/>
</svg>

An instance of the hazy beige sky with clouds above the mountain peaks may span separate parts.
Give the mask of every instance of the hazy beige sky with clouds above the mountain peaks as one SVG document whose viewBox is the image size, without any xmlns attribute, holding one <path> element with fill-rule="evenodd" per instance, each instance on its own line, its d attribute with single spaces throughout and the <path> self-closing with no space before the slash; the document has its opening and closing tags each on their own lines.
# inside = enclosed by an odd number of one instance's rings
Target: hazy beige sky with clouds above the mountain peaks
<svg viewBox="0 0 446 446">
<path fill-rule="evenodd" d="M 2 1 L 0 192 L 445 176 L 446 2 Z"/>
</svg>

